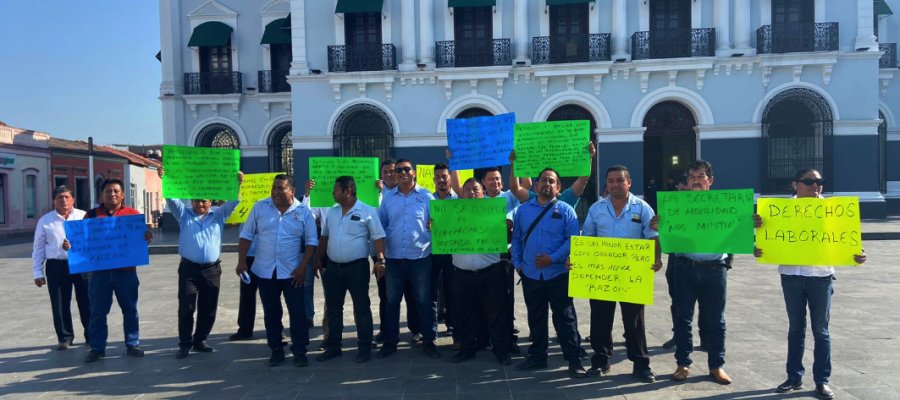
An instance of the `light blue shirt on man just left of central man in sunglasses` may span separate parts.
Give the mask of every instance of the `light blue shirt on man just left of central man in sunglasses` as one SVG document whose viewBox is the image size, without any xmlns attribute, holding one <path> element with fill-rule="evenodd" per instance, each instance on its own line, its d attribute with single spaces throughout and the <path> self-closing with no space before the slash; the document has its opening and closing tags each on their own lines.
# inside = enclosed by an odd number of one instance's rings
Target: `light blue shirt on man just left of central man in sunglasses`
<svg viewBox="0 0 900 400">
<path fill-rule="evenodd" d="M 335 205 L 325 213 L 322 237 L 328 238 L 328 259 L 336 263 L 369 256 L 369 243 L 384 238 L 384 228 L 378 211 L 356 200 L 347 214 L 341 215 L 341 205 Z"/>
</svg>

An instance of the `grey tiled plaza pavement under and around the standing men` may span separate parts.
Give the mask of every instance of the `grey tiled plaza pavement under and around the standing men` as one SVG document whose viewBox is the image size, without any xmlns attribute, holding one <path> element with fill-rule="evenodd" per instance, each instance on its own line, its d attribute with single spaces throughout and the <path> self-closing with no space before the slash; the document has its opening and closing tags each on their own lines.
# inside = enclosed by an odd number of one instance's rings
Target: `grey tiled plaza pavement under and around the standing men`
<svg viewBox="0 0 900 400">
<path fill-rule="evenodd" d="M 900 399 L 900 242 L 871 241 L 865 246 L 870 262 L 861 268 L 838 270 L 832 307 L 833 388 L 839 399 Z M 320 363 L 310 352 L 307 368 L 290 363 L 270 368 L 264 343 L 262 312 L 257 314 L 256 336 L 250 342 L 228 342 L 236 330 L 238 279 L 230 273 L 236 255 L 223 256 L 218 321 L 210 344 L 212 354 L 192 354 L 176 360 L 176 263 L 175 255 L 151 256 L 151 265 L 140 268 L 140 317 L 143 359 L 124 357 L 121 314 L 110 314 L 112 342 L 107 358 L 85 365 L 85 347 L 54 351 L 55 335 L 47 291 L 31 279 L 30 260 L 13 247 L 0 247 L 3 257 L 0 281 L 0 396 L 4 398 L 348 398 L 348 399 L 781 399 L 812 398 L 812 337 L 808 335 L 805 364 L 807 389 L 781 395 L 775 385 L 784 380 L 787 322 L 773 266 L 756 265 L 740 256 L 729 277 L 727 306 L 728 338 L 725 366 L 734 384 L 720 386 L 706 377 L 706 356 L 694 353 L 692 377 L 685 383 L 670 380 L 675 369 L 671 350 L 660 345 L 669 338 L 669 298 L 665 279 L 656 279 L 656 304 L 647 308 L 647 335 L 652 366 L 658 382 L 641 384 L 630 376 L 631 363 L 617 344 L 612 374 L 608 377 L 569 379 L 559 347 L 553 344 L 550 368 L 519 372 L 501 368 L 488 352 L 472 361 L 451 364 L 450 340 L 441 338 L 443 358 L 432 360 L 416 348 L 402 347 L 386 360 L 367 364 L 353 362 L 352 328 L 345 332 L 343 357 Z M 15 257 L 13 257 L 15 256 Z M 377 299 L 372 286 L 372 298 Z M 349 299 L 348 299 L 349 300 Z M 527 337 L 525 306 L 517 292 L 517 326 Z M 375 300 L 377 304 L 377 300 Z M 311 350 L 321 342 L 322 294 L 316 283 L 317 326 L 312 329 Z M 577 300 L 582 335 L 588 335 L 589 308 Z M 349 304 L 348 304 L 349 305 Z M 377 313 L 377 307 L 373 309 Z M 347 308 L 345 308 L 347 310 Z M 76 313 L 77 314 L 77 313 Z M 352 316 L 348 315 L 346 323 Z M 376 314 L 377 321 L 377 314 Z M 443 330 L 443 326 L 441 327 Z M 552 331 L 551 331 L 552 334 Z M 617 322 L 614 338 L 622 339 Z M 403 333 L 401 339 L 408 339 Z M 695 335 L 696 338 L 696 335 Z M 523 350 L 526 340 L 521 339 Z M 588 346 L 585 345 L 587 348 Z M 590 350 L 588 349 L 590 352 Z M 514 358 L 518 362 L 520 358 Z"/>
</svg>

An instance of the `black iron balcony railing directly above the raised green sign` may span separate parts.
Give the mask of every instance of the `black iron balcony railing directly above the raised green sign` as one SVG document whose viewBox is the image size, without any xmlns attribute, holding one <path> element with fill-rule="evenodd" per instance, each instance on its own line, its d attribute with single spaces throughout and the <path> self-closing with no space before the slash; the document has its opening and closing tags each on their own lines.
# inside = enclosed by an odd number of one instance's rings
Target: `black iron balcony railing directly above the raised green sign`
<svg viewBox="0 0 900 400">
<path fill-rule="evenodd" d="M 531 41 L 532 64 L 609 61 L 609 34 L 537 36 Z"/>
</svg>

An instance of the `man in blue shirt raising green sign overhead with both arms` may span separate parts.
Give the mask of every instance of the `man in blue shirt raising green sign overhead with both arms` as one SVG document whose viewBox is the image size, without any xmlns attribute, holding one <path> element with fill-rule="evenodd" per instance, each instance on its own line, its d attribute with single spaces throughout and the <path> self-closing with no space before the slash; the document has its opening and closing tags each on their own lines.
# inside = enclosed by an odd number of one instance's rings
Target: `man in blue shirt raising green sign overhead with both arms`
<svg viewBox="0 0 900 400">
<path fill-rule="evenodd" d="M 158 170 L 160 178 L 165 170 Z M 238 184 L 243 183 L 244 174 L 238 173 Z M 177 199 L 166 199 L 166 205 L 178 220 L 178 353 L 185 358 L 191 348 L 201 353 L 210 353 L 213 348 L 206 344 L 206 338 L 216 322 L 219 304 L 219 279 L 222 266 L 219 255 L 222 252 L 222 229 L 225 220 L 234 212 L 237 201 L 229 201 L 221 207 L 212 207 L 210 199 L 192 199 L 191 208 Z M 194 325 L 194 311 L 197 312 L 197 330 L 191 337 Z"/>
</svg>

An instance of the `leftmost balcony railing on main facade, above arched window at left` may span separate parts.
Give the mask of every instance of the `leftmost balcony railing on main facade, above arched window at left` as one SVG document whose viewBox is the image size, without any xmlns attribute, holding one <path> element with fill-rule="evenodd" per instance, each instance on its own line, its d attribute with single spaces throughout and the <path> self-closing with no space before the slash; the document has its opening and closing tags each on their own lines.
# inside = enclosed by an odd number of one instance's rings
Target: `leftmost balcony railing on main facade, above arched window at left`
<svg viewBox="0 0 900 400">
<path fill-rule="evenodd" d="M 395 69 L 397 50 L 393 44 L 328 46 L 328 72 Z"/>
</svg>

